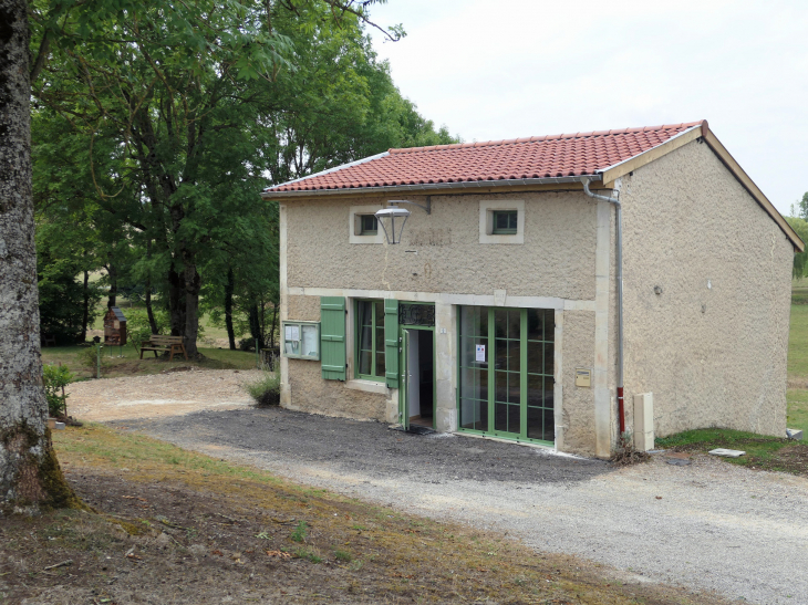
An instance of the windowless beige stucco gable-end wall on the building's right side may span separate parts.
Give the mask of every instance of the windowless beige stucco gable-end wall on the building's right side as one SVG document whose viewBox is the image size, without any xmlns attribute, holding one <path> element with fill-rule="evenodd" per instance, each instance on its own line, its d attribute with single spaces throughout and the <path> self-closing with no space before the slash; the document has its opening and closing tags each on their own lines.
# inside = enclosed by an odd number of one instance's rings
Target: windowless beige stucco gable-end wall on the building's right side
<svg viewBox="0 0 808 605">
<path fill-rule="evenodd" d="M 706 144 L 623 177 L 621 200 L 629 423 L 651 392 L 657 436 L 783 435 L 791 243 Z"/>
</svg>

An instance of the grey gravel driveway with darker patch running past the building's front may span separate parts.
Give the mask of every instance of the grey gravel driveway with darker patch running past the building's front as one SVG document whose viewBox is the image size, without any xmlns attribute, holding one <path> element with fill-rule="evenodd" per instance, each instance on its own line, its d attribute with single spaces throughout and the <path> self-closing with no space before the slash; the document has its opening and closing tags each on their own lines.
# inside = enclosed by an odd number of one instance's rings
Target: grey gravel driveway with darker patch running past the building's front
<svg viewBox="0 0 808 605">
<path fill-rule="evenodd" d="M 113 423 L 115 424 L 115 423 Z M 808 603 L 808 481 L 711 457 L 615 470 L 541 449 L 283 409 L 127 420 L 187 449 L 582 555 L 633 581 Z"/>
</svg>

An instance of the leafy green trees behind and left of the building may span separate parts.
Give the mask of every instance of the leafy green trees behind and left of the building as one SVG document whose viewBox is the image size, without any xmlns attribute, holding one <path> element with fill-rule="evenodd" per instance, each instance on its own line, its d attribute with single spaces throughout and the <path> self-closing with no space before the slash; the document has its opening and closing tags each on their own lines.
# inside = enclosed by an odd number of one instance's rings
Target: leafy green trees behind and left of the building
<svg viewBox="0 0 808 605">
<path fill-rule="evenodd" d="M 204 313 L 231 348 L 242 334 L 273 344 L 278 209 L 260 191 L 457 140 L 395 87 L 367 4 L 30 4 L 43 333 L 83 341 L 102 294 L 126 294 L 189 355 Z"/>
</svg>

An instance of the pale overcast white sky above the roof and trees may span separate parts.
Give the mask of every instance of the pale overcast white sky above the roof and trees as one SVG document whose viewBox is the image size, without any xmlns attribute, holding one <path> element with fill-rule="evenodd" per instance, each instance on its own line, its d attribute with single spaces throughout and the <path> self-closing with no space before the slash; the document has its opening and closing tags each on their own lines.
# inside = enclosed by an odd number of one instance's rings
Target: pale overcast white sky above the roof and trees
<svg viewBox="0 0 808 605">
<path fill-rule="evenodd" d="M 808 1 L 389 0 L 375 49 L 466 142 L 706 118 L 777 209 L 808 191 Z"/>
</svg>

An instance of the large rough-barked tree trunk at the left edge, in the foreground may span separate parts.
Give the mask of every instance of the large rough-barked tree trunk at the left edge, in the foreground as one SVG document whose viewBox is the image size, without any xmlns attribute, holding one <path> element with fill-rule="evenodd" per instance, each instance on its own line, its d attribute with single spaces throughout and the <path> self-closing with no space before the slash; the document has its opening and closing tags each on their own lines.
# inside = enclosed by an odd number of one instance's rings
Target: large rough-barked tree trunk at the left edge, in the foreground
<svg viewBox="0 0 808 605">
<path fill-rule="evenodd" d="M 0 0 L 0 514 L 79 505 L 45 424 L 27 10 L 25 0 Z"/>
</svg>

